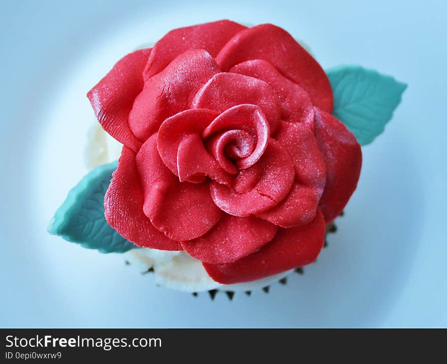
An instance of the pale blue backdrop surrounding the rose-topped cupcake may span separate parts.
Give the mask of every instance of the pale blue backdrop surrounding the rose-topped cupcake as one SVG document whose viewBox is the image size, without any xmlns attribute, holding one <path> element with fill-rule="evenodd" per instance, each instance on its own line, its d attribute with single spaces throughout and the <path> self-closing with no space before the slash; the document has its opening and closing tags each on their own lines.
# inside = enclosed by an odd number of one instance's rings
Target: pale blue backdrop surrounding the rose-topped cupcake
<svg viewBox="0 0 447 364">
<path fill-rule="evenodd" d="M 0 326 L 447 326 L 446 13 L 441 1 L 3 4 Z M 68 73 L 97 59 L 91 86 L 146 38 L 110 47 L 104 64 L 95 49 L 137 23 L 159 37 L 219 18 L 275 23 L 309 44 L 325 68 L 358 63 L 409 85 L 386 133 L 364 148 L 359 189 L 330 248 L 304 277 L 233 302 L 152 287 L 119 256 L 47 236 L 49 211 L 76 182 L 76 155 L 58 150 L 68 157 L 53 166 L 57 173 L 37 157 Z M 83 103 L 87 90 L 82 84 Z M 47 186 L 45 203 L 38 186 Z"/>
</svg>

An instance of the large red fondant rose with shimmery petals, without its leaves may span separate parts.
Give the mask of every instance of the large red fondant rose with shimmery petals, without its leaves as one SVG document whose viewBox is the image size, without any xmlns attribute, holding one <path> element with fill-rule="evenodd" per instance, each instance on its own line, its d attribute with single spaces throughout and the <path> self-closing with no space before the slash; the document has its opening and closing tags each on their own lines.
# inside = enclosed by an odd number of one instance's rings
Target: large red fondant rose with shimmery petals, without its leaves
<svg viewBox="0 0 447 364">
<path fill-rule="evenodd" d="M 286 31 L 223 20 L 122 58 L 88 93 L 124 144 L 107 221 L 185 250 L 220 283 L 312 262 L 356 188 L 360 145 L 320 65 Z"/>
</svg>

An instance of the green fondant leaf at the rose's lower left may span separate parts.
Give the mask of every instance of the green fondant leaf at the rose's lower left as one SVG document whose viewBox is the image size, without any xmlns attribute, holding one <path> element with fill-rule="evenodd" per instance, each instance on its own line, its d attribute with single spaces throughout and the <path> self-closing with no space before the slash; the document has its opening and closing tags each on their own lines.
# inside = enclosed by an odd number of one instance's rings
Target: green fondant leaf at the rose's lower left
<svg viewBox="0 0 447 364">
<path fill-rule="evenodd" d="M 136 248 L 104 217 L 104 195 L 116 167 L 116 161 L 103 164 L 85 175 L 56 211 L 48 232 L 102 253 L 124 253 Z"/>
</svg>

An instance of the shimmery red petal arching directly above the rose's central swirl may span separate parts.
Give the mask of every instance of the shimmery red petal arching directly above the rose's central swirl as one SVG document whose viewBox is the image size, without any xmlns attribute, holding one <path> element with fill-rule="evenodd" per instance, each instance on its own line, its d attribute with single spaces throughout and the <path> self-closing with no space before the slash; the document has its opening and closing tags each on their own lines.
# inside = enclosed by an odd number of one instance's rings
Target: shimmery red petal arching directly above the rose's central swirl
<svg viewBox="0 0 447 364">
<path fill-rule="evenodd" d="M 274 134 L 279 120 L 279 106 L 273 89 L 264 81 L 236 73 L 218 73 L 197 93 L 193 108 L 217 111 L 241 104 L 257 105 L 264 112 L 270 133 Z"/>
</svg>

